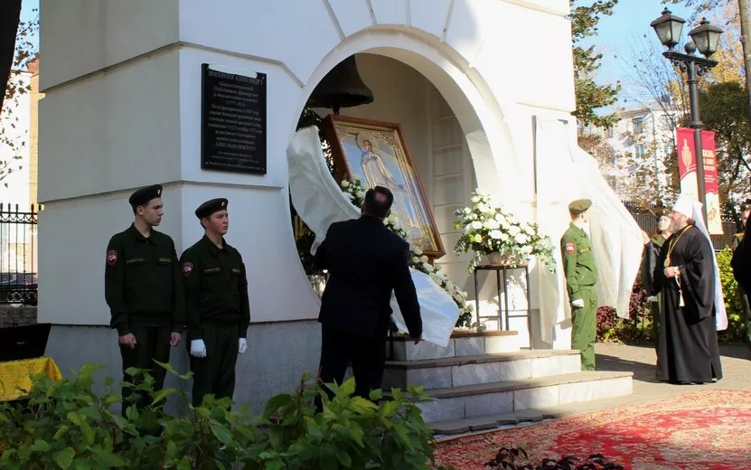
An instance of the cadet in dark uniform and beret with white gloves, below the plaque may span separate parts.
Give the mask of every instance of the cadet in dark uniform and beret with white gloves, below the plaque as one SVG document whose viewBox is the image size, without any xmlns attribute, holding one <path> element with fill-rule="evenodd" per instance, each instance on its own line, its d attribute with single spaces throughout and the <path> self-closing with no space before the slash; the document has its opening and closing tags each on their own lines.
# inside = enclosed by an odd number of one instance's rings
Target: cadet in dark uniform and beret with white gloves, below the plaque
<svg viewBox="0 0 751 470">
<path fill-rule="evenodd" d="M 180 259 L 193 372 L 193 406 L 203 396 L 232 397 L 235 362 L 245 352 L 250 324 L 248 278 L 237 249 L 224 241 L 229 227 L 226 199 L 203 202 L 195 215 L 203 238 Z"/>
</svg>

